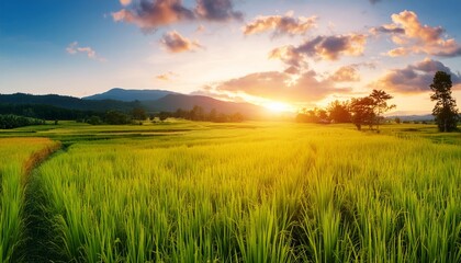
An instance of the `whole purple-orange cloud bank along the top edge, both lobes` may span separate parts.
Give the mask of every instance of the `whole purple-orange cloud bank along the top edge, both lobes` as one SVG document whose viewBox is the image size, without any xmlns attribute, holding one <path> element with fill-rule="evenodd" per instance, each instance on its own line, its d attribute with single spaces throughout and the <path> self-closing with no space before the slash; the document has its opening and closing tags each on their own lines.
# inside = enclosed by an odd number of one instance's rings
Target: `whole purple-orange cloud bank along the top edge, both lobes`
<svg viewBox="0 0 461 263">
<path fill-rule="evenodd" d="M 187 8 L 182 0 L 121 0 L 123 9 L 112 13 L 115 22 L 135 24 L 145 32 L 188 20 L 224 22 L 241 20 L 234 11 L 232 0 L 196 0 L 195 9 Z"/>
</svg>

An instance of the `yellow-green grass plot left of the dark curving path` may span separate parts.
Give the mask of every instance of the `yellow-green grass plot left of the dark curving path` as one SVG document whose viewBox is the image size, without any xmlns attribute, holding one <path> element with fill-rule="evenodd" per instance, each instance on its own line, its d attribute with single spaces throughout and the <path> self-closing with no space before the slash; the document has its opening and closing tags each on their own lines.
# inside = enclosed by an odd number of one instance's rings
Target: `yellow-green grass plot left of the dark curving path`
<svg viewBox="0 0 461 263">
<path fill-rule="evenodd" d="M 55 146 L 46 138 L 0 138 L 0 262 L 22 258 L 25 175 Z"/>
</svg>

